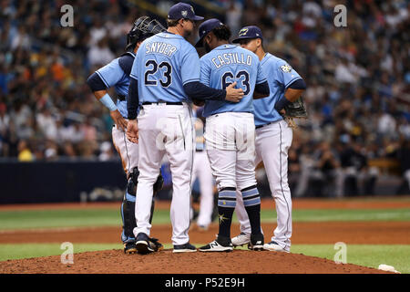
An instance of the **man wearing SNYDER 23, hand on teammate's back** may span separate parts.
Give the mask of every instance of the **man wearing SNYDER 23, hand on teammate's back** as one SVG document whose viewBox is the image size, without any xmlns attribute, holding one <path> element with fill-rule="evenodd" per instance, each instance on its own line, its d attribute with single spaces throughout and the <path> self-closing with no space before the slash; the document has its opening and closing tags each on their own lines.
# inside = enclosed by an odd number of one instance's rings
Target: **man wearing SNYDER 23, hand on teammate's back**
<svg viewBox="0 0 410 292">
<path fill-rule="evenodd" d="M 195 21 L 201 19 L 191 5 L 173 5 L 169 9 L 168 30 L 140 45 L 131 69 L 127 136 L 139 145 L 135 210 L 138 224 L 134 229 L 138 253 L 153 251 L 149 245 L 149 210 L 152 187 L 165 154 L 173 184 L 170 206 L 173 252 L 196 252 L 188 235 L 194 151 L 190 101 L 196 98 L 238 102 L 243 96 L 243 90 L 234 89 L 234 84 L 223 90 L 200 83 L 200 57 L 185 37 L 190 36 Z"/>
</svg>

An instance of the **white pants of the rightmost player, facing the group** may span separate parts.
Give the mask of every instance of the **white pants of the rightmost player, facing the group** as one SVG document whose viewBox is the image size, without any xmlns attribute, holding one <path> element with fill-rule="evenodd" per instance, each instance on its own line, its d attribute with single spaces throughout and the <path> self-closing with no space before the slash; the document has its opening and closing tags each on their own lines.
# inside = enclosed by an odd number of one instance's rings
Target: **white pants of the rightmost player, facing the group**
<svg viewBox="0 0 410 292">
<path fill-rule="evenodd" d="M 288 150 L 292 145 L 292 138 L 292 129 L 284 120 L 256 130 L 255 165 L 263 162 L 276 205 L 277 227 L 272 241 L 287 251 L 291 249 L 292 236 L 292 197 L 288 184 Z M 251 224 L 239 192 L 236 201 L 235 212 L 241 224 L 241 232 L 250 235 Z"/>
</svg>

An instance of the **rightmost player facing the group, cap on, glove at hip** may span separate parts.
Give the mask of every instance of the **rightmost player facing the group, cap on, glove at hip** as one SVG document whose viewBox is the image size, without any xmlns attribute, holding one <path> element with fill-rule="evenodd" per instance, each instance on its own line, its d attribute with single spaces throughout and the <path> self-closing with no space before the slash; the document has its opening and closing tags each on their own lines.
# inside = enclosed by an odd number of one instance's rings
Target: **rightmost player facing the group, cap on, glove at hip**
<svg viewBox="0 0 410 292">
<path fill-rule="evenodd" d="M 256 128 L 255 165 L 263 161 L 272 196 L 276 204 L 277 227 L 272 241 L 263 245 L 271 251 L 290 252 L 292 236 L 292 198 L 288 185 L 288 150 L 292 144 L 292 129 L 283 120 L 283 108 L 299 99 L 306 85 L 301 76 L 284 60 L 265 53 L 261 29 L 243 27 L 233 43 L 249 49 L 261 60 L 261 68 L 269 81 L 271 93 L 267 99 L 253 100 Z M 232 244 L 251 243 L 251 224 L 245 212 L 246 203 L 237 193 L 236 213 L 241 223 L 241 234 L 232 238 Z M 249 245 L 251 248 L 251 245 Z"/>
</svg>

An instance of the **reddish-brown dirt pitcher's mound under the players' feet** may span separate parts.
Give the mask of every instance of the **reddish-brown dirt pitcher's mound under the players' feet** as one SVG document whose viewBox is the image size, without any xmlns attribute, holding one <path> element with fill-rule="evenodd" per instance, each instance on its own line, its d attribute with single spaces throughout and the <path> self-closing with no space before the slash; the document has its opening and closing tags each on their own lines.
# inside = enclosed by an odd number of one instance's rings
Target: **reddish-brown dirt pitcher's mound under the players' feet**
<svg viewBox="0 0 410 292">
<path fill-rule="evenodd" d="M 124 255 L 122 250 L 74 255 L 63 265 L 60 256 L 0 262 L 0 273 L 23 274 L 379 274 L 365 266 L 335 264 L 319 257 L 235 250 L 231 253 Z"/>
</svg>

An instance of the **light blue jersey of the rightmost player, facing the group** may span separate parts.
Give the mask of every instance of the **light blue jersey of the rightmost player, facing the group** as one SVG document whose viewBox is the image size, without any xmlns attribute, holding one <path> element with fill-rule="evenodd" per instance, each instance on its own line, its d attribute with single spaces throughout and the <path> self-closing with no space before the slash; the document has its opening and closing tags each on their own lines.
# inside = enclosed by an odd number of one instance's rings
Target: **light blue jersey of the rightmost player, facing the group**
<svg viewBox="0 0 410 292">
<path fill-rule="evenodd" d="M 261 60 L 261 68 L 265 76 L 269 76 L 270 95 L 264 99 L 254 99 L 255 126 L 272 121 L 282 120 L 282 116 L 274 109 L 276 101 L 282 99 L 285 90 L 297 79 L 302 79 L 286 61 L 267 53 Z"/>
</svg>

